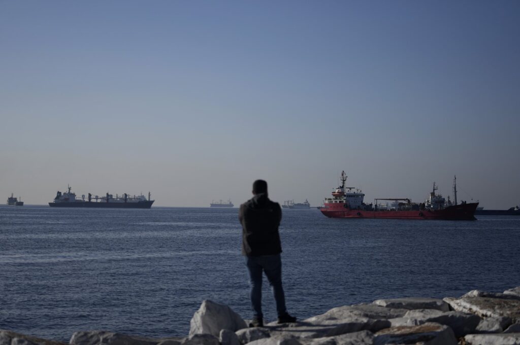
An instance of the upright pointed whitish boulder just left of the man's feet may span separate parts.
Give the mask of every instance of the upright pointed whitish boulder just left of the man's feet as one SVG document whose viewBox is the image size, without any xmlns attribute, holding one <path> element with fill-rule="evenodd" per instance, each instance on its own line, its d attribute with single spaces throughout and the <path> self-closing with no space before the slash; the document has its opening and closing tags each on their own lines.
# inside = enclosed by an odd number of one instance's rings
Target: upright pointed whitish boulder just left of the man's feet
<svg viewBox="0 0 520 345">
<path fill-rule="evenodd" d="M 189 336 L 212 334 L 218 337 L 221 329 L 235 332 L 247 326 L 240 315 L 225 304 L 204 300 L 199 310 L 191 318 Z"/>
</svg>

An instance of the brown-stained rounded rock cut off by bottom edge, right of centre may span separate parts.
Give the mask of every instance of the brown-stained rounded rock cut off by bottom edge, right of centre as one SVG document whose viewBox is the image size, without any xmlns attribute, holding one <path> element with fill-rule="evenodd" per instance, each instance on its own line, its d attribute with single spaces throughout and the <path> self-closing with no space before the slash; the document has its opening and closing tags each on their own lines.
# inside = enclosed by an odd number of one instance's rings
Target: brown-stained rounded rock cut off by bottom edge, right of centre
<svg viewBox="0 0 520 345">
<path fill-rule="evenodd" d="M 428 322 L 380 330 L 375 334 L 374 344 L 457 345 L 457 339 L 450 327 Z"/>
</svg>

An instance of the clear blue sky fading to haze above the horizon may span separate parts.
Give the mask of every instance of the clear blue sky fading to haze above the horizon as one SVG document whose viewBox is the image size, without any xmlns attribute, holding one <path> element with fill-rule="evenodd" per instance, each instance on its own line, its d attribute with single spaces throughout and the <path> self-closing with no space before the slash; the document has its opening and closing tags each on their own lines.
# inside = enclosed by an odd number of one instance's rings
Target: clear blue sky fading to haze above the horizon
<svg viewBox="0 0 520 345">
<path fill-rule="evenodd" d="M 0 1 L 0 197 L 268 181 L 313 206 L 435 181 L 520 204 L 518 1 Z"/>
</svg>

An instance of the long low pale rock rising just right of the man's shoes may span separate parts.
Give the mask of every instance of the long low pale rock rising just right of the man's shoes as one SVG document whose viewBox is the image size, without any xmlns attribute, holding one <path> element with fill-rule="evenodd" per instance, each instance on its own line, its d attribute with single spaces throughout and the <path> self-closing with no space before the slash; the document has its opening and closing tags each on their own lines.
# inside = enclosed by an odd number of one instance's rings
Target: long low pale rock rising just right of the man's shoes
<svg viewBox="0 0 520 345">
<path fill-rule="evenodd" d="M 309 317 L 305 322 L 319 323 L 321 321 L 348 319 L 353 316 L 369 317 L 370 319 L 393 319 L 406 314 L 407 309 L 385 308 L 376 304 L 354 304 L 333 308 L 321 315 Z"/>
</svg>

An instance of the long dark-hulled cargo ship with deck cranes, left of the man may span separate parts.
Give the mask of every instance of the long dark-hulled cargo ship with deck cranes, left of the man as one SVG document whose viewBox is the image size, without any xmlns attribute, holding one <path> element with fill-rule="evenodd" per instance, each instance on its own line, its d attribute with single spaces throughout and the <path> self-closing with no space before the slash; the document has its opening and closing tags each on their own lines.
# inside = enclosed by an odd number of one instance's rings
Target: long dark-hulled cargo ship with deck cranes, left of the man
<svg viewBox="0 0 520 345">
<path fill-rule="evenodd" d="M 146 196 L 140 195 L 128 195 L 123 193 L 119 196 L 115 194 L 107 193 L 105 196 L 92 196 L 88 193 L 87 200 L 85 195 L 81 196 L 81 199 L 76 199 L 76 193 L 71 191 L 71 187 L 68 186 L 67 192 L 56 193 L 56 197 L 53 202 L 49 203 L 50 207 L 97 207 L 97 208 L 150 208 L 154 200 L 150 200 L 150 192 L 148 192 L 148 200 Z"/>
</svg>

